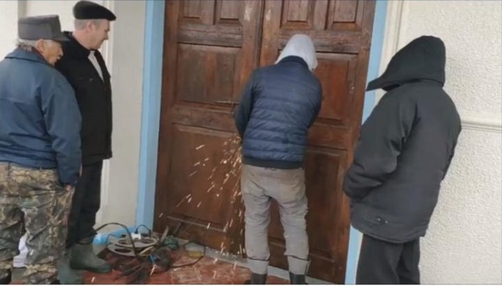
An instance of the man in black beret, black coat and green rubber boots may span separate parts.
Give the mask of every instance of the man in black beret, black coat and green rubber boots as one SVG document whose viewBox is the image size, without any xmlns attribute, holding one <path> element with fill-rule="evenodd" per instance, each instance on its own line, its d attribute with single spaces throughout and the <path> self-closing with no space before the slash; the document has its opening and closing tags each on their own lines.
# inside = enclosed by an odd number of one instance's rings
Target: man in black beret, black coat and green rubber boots
<svg viewBox="0 0 502 286">
<path fill-rule="evenodd" d="M 100 51 L 108 39 L 110 22 L 116 19 L 107 8 L 90 1 L 73 7 L 75 31 L 65 32 L 64 56 L 56 68 L 68 79 L 82 113 L 82 177 L 68 222 L 67 250 L 59 262 L 63 284 L 82 284 L 77 269 L 107 273 L 112 267 L 93 252 L 94 224 L 100 209 L 103 160 L 112 157 L 112 89 L 110 74 Z"/>
</svg>

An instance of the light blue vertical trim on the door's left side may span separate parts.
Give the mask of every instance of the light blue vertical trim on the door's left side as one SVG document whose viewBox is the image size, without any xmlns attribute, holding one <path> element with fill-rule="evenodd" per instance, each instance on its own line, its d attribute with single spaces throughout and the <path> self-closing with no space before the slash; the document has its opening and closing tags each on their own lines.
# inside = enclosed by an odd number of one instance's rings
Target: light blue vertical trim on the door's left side
<svg viewBox="0 0 502 286">
<path fill-rule="evenodd" d="M 142 133 L 139 151 L 139 189 L 136 225 L 153 225 L 155 179 L 157 174 L 160 97 L 162 92 L 162 51 L 165 1 L 146 1 L 144 38 Z"/>
</svg>

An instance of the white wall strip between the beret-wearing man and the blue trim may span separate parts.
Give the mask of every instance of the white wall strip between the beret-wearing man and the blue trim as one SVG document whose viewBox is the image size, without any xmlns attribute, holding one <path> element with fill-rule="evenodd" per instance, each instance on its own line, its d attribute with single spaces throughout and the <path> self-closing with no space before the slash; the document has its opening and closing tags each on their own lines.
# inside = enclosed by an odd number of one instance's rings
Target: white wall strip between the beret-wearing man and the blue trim
<svg viewBox="0 0 502 286">
<path fill-rule="evenodd" d="M 102 223 L 114 221 L 132 226 L 139 185 L 146 1 L 109 2 L 117 16 L 109 47 L 114 157 L 109 161 L 109 194 L 102 202 Z"/>
</svg>

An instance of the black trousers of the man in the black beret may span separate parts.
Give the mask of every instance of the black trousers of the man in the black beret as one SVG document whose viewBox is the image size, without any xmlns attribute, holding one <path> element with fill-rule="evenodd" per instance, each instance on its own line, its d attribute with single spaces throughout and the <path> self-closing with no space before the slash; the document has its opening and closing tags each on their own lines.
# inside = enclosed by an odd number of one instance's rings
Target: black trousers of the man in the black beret
<svg viewBox="0 0 502 286">
<path fill-rule="evenodd" d="M 80 239 L 94 237 L 96 213 L 100 209 L 102 161 L 82 166 L 82 176 L 75 186 L 66 246 L 70 247 Z"/>
</svg>

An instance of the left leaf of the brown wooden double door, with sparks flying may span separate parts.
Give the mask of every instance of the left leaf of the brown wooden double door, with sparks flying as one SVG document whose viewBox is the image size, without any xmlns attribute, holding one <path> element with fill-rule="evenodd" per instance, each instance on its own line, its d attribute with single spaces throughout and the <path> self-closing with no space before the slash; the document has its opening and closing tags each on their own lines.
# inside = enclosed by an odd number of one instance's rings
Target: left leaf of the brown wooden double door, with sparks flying
<svg viewBox="0 0 502 286">
<path fill-rule="evenodd" d="M 258 65 L 263 4 L 166 1 L 155 229 L 181 223 L 181 237 L 218 250 L 237 252 L 242 240 L 237 182 L 223 184 L 229 166 L 212 171 Z"/>
</svg>

